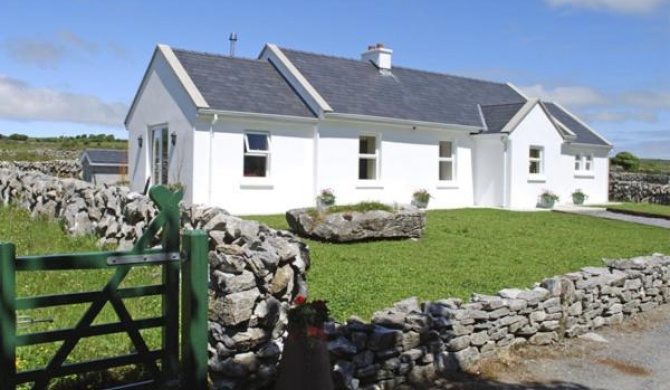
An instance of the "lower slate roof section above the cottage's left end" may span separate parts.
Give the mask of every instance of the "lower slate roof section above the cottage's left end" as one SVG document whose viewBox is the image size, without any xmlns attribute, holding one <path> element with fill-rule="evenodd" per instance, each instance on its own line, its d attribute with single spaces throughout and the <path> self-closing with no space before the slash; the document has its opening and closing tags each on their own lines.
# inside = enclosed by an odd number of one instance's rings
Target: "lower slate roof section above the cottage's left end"
<svg viewBox="0 0 670 390">
<path fill-rule="evenodd" d="M 173 49 L 210 108 L 314 117 L 272 64 Z"/>
</svg>

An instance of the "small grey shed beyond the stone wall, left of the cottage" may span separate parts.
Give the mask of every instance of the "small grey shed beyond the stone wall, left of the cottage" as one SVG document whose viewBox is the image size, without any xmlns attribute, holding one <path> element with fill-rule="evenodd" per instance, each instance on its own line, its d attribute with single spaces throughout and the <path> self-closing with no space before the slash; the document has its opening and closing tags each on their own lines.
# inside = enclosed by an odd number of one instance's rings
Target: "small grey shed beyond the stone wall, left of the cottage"
<svg viewBox="0 0 670 390">
<path fill-rule="evenodd" d="M 114 149 L 85 149 L 79 156 L 82 179 L 93 184 L 128 181 L 128 152 Z"/>
</svg>

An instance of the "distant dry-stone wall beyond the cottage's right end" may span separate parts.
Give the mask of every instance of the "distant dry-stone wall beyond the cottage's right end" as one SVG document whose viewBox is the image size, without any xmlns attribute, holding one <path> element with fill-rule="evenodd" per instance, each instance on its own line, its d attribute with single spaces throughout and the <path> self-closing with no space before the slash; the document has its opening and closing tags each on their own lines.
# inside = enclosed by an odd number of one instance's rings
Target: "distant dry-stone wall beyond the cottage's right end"
<svg viewBox="0 0 670 390">
<path fill-rule="evenodd" d="M 670 174 L 610 172 L 609 197 L 623 202 L 670 205 Z"/>
</svg>

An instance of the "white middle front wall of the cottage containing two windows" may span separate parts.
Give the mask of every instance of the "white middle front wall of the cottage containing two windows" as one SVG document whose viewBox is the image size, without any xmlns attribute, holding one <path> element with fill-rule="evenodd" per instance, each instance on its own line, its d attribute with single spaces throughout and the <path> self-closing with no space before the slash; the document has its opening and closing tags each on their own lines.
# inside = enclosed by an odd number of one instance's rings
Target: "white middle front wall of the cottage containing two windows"
<svg viewBox="0 0 670 390">
<path fill-rule="evenodd" d="M 359 136 L 378 138 L 378 180 L 358 180 Z M 456 180 L 440 182 L 439 141 L 454 145 Z M 332 188 L 337 203 L 364 200 L 408 204 L 417 189 L 432 195 L 429 208 L 473 205 L 473 140 L 463 131 L 324 120 L 319 124 L 317 190 Z"/>
</svg>

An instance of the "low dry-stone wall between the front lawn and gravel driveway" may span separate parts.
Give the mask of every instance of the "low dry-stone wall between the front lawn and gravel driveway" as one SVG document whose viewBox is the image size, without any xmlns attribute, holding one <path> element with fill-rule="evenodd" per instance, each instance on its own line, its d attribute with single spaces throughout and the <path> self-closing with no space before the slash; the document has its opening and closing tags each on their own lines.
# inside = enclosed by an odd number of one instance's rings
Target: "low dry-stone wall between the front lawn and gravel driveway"
<svg viewBox="0 0 670 390">
<path fill-rule="evenodd" d="M 339 389 L 422 385 L 439 374 L 468 370 L 515 344 L 545 345 L 575 337 L 670 303 L 670 256 L 606 260 L 532 289 L 474 294 L 469 302 L 410 298 L 328 329 Z"/>
</svg>

